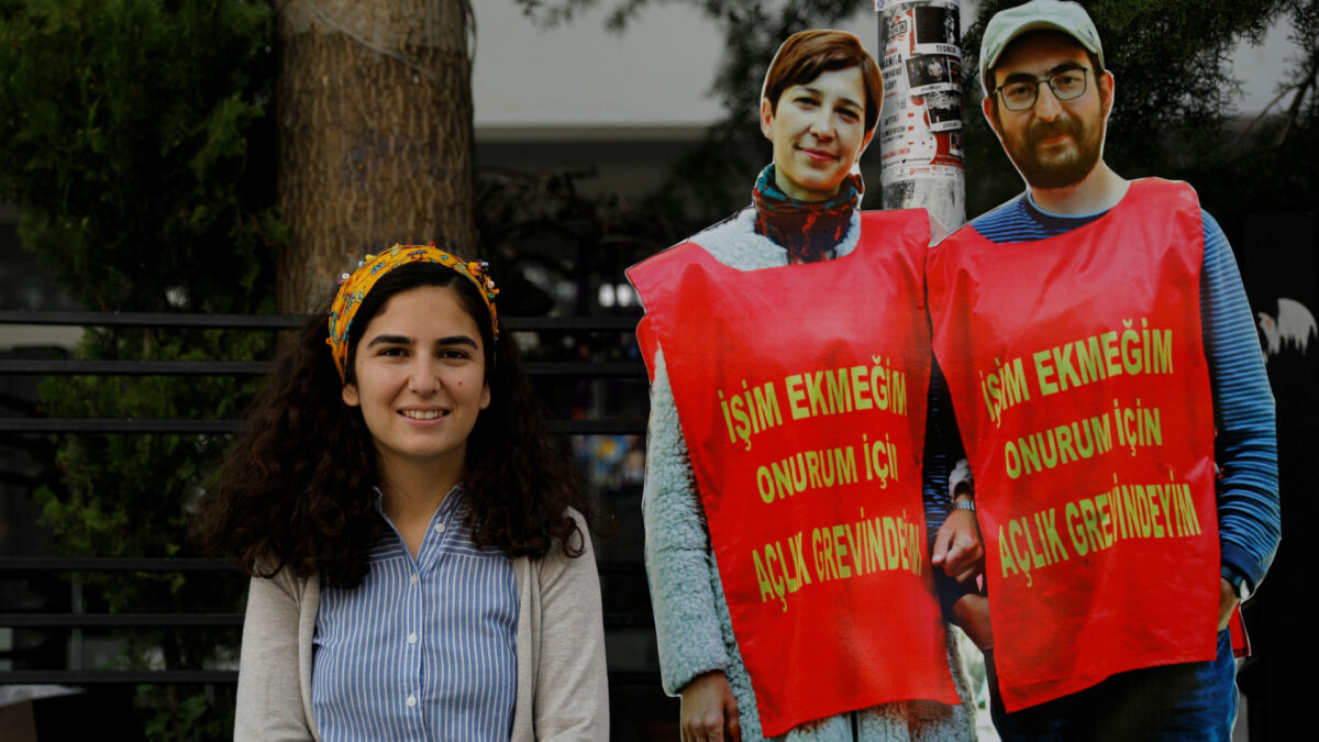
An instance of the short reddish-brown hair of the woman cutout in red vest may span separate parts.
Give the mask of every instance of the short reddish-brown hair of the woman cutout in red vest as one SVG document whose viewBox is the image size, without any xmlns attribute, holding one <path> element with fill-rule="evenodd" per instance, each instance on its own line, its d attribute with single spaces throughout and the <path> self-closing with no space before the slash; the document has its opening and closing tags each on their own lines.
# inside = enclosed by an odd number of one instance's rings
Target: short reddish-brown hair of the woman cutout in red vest
<svg viewBox="0 0 1319 742">
<path fill-rule="evenodd" d="M 765 73 L 761 98 L 769 100 L 772 111 L 778 110 L 778 99 L 794 84 L 806 84 L 822 73 L 861 69 L 865 86 L 865 131 L 869 133 L 880 120 L 884 103 L 884 78 L 874 57 L 861 46 L 861 40 L 845 30 L 802 30 L 787 37 L 778 48 L 774 61 Z"/>
</svg>

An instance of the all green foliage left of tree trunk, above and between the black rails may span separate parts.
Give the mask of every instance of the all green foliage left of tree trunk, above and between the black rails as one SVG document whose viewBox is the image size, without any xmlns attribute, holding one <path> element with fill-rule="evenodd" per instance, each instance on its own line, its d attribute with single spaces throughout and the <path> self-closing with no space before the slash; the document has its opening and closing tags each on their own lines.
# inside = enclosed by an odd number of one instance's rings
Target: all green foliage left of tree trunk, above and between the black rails
<svg viewBox="0 0 1319 742">
<path fill-rule="evenodd" d="M 0 0 L 0 197 L 20 236 L 92 309 L 269 309 L 286 239 L 273 191 L 273 12 L 257 0 Z M 269 358 L 270 333 L 92 329 L 75 355 L 115 360 Z M 253 380 L 47 379 L 54 417 L 237 417 Z M 191 504 L 223 436 L 58 440 L 62 481 L 36 496 L 63 555 L 193 556 Z M 230 611 L 237 574 L 82 576 L 116 613 Z M 230 631 L 136 631 L 124 664 L 198 669 Z M 231 713 L 181 687 L 144 687 L 153 739 L 227 734 Z"/>
</svg>

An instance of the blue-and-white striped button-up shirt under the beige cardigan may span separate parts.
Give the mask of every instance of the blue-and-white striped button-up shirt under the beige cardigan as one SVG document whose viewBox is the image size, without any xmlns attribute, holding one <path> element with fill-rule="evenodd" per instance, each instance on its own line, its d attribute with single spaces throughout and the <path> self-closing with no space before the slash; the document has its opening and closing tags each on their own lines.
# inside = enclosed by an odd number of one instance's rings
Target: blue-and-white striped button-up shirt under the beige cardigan
<svg viewBox="0 0 1319 742">
<path fill-rule="evenodd" d="M 467 512 L 458 486 L 417 558 L 389 523 L 361 585 L 322 589 L 311 706 L 327 742 L 512 734 L 517 577 L 508 555 L 472 544 Z"/>
</svg>

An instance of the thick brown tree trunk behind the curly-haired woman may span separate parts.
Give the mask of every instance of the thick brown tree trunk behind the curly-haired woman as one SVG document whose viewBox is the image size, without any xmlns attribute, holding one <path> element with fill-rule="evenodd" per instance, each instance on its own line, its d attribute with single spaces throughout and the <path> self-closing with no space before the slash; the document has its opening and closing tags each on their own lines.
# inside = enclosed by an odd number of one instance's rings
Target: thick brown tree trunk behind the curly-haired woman
<svg viewBox="0 0 1319 742">
<path fill-rule="evenodd" d="M 285 0 L 278 13 L 280 310 L 307 312 L 396 242 L 472 255 L 468 3 Z"/>
</svg>

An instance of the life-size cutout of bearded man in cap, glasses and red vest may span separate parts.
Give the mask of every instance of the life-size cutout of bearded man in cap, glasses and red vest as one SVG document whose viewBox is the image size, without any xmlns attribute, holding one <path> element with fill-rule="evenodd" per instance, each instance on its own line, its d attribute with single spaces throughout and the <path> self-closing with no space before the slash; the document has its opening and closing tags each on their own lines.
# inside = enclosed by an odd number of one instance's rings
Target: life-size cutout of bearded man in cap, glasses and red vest
<svg viewBox="0 0 1319 742">
<path fill-rule="evenodd" d="M 1028 189 L 927 272 L 985 540 L 995 725 L 1228 739 L 1225 628 L 1279 537 L 1273 396 L 1231 247 L 1188 185 L 1104 162 L 1115 81 L 1080 5 L 997 13 L 980 74 Z"/>
</svg>

